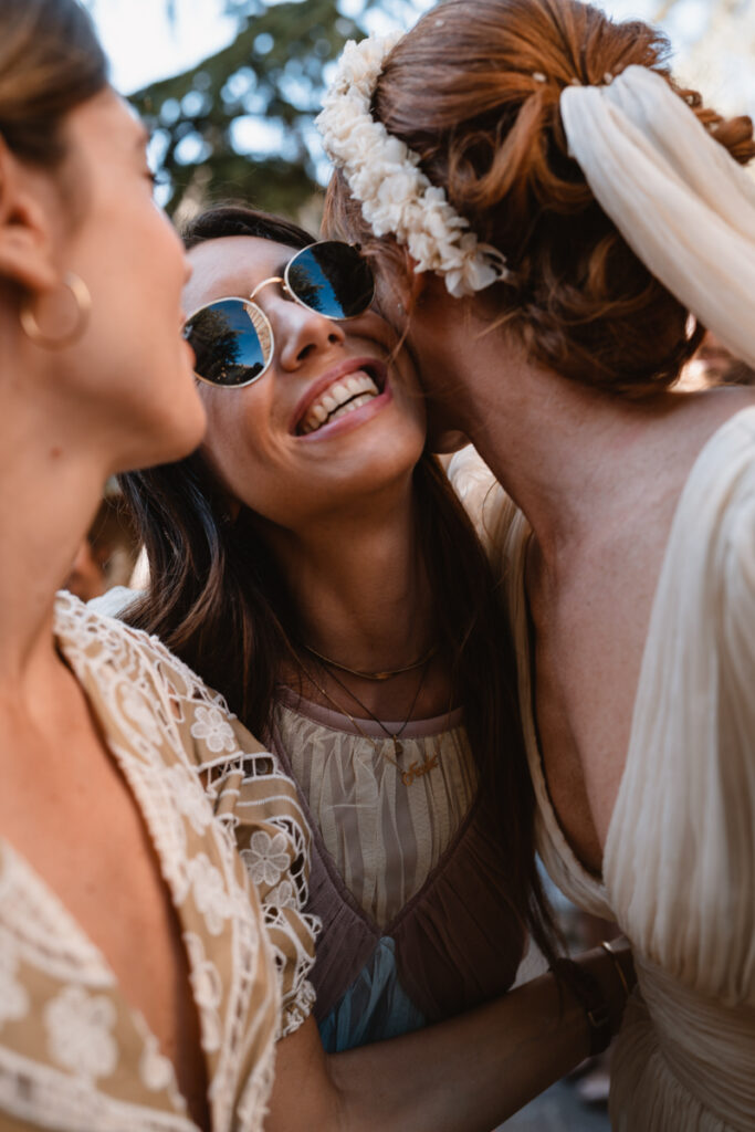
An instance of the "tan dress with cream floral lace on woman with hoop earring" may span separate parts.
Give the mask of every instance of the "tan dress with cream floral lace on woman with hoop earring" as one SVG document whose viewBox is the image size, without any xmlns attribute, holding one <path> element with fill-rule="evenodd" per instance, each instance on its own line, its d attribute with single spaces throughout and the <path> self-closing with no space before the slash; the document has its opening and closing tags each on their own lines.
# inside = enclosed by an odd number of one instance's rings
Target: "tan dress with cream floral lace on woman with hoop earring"
<svg viewBox="0 0 755 1132">
<path fill-rule="evenodd" d="M 57 601 L 55 636 L 141 809 L 181 923 L 212 1129 L 258 1132 L 275 1038 L 312 1000 L 308 832 L 293 786 L 154 638 L 69 594 Z M 196 1132 L 171 1062 L 105 959 L 1 837 L 0 1127 Z"/>
</svg>

